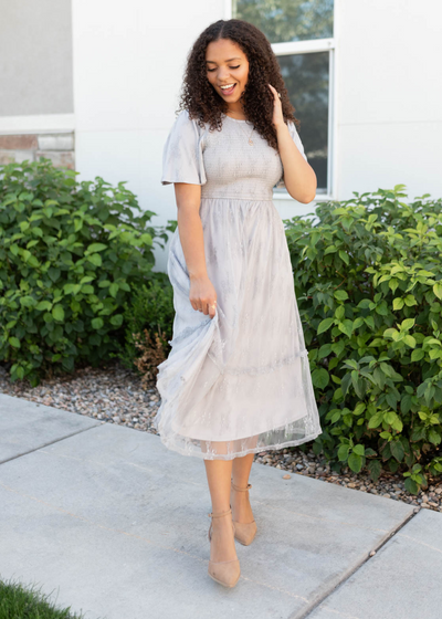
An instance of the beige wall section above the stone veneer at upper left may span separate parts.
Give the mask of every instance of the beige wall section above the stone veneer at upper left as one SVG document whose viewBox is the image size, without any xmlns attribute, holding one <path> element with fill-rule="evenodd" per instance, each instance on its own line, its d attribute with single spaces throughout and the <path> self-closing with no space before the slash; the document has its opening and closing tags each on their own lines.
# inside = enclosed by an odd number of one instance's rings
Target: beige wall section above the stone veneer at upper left
<svg viewBox="0 0 442 619">
<path fill-rule="evenodd" d="M 71 0 L 0 0 L 0 132 L 72 112 Z"/>
</svg>

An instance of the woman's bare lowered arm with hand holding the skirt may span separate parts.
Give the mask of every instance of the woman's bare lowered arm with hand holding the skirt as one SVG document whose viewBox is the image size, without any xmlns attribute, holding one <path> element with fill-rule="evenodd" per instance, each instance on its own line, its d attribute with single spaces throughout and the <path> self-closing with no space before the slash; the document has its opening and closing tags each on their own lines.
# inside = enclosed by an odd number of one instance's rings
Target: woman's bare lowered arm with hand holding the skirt
<svg viewBox="0 0 442 619">
<path fill-rule="evenodd" d="M 189 301 L 193 310 L 214 316 L 217 292 L 209 280 L 204 254 L 204 238 L 200 218 L 201 186 L 175 182 L 178 208 L 178 233 L 190 277 Z"/>
</svg>

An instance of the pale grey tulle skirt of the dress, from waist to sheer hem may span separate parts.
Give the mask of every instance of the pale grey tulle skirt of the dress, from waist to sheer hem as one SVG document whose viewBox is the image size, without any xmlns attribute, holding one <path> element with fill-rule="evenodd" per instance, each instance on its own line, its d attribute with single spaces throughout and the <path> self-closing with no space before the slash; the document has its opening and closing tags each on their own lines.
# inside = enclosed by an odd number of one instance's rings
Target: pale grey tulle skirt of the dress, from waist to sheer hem
<svg viewBox="0 0 442 619">
<path fill-rule="evenodd" d="M 213 318 L 193 310 L 176 229 L 171 352 L 158 366 L 154 427 L 183 455 L 232 460 L 322 433 L 284 224 L 272 200 L 202 198 Z"/>
</svg>

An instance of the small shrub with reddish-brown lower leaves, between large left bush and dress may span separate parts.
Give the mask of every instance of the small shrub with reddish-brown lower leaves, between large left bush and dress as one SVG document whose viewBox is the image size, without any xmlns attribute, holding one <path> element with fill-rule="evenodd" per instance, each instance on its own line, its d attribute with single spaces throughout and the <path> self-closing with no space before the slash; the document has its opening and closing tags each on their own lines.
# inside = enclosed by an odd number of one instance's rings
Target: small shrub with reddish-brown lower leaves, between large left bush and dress
<svg viewBox="0 0 442 619">
<path fill-rule="evenodd" d="M 156 376 L 156 367 L 170 352 L 175 317 L 169 277 L 160 272 L 151 275 L 125 303 L 125 342 L 115 355 L 124 366 L 138 369 L 146 380 Z"/>
</svg>

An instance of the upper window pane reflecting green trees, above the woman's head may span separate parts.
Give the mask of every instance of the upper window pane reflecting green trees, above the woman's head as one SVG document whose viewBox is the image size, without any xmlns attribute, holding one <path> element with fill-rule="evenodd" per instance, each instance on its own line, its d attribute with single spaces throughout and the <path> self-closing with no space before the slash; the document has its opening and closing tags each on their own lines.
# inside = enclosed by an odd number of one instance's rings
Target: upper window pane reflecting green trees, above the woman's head
<svg viewBox="0 0 442 619">
<path fill-rule="evenodd" d="M 333 36 L 334 0 L 233 0 L 232 17 L 256 25 L 271 43 Z"/>
</svg>

